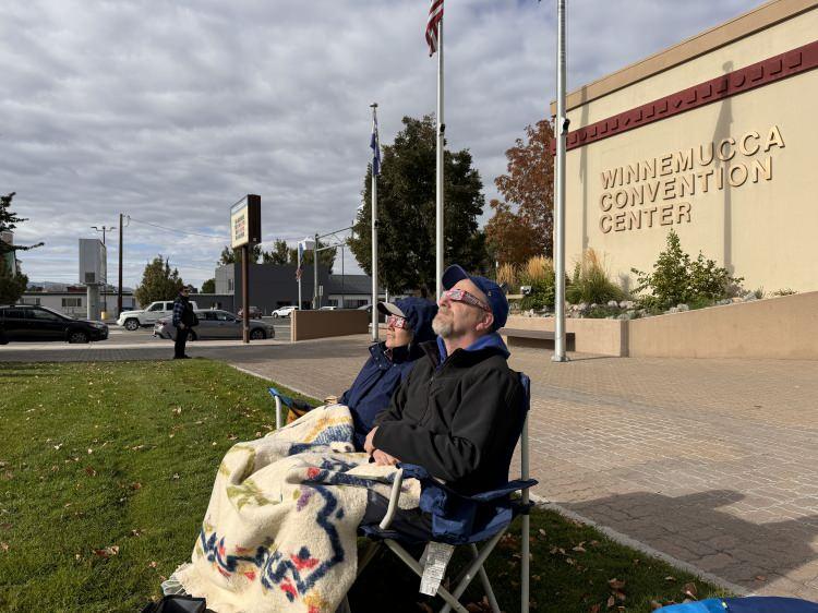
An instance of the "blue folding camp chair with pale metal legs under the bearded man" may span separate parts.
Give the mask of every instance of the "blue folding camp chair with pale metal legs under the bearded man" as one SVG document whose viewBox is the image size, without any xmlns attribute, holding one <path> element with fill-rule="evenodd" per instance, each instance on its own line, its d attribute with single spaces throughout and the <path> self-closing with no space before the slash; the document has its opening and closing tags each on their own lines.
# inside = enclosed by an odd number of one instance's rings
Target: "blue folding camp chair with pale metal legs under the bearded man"
<svg viewBox="0 0 818 613">
<path fill-rule="evenodd" d="M 466 588 L 479 576 L 485 590 L 485 596 L 494 613 L 500 613 L 494 591 L 492 590 L 489 576 L 483 568 L 483 563 L 492 553 L 503 534 L 508 529 L 515 516 L 522 516 L 521 527 L 521 611 L 528 613 L 529 602 L 529 489 L 537 481 L 529 479 L 528 470 L 528 409 L 530 406 L 530 380 L 520 373 L 520 383 L 525 389 L 525 398 L 519 413 L 520 421 L 520 479 L 509 481 L 504 486 L 490 492 L 482 492 L 473 496 L 462 496 L 449 490 L 431 477 L 429 472 L 419 466 L 400 465 L 395 476 L 392 488 L 389 505 L 383 520 L 377 526 L 361 526 L 363 534 L 373 540 L 369 550 L 361 558 L 358 576 L 372 562 L 374 556 L 386 545 L 392 550 L 411 570 L 419 577 L 423 577 L 424 566 L 402 546 L 410 540 L 401 539 L 401 534 L 389 527 L 398 508 L 400 486 L 405 478 L 416 478 L 421 482 L 421 510 L 432 516 L 432 542 L 446 545 L 468 545 L 471 550 L 472 562 L 452 584 L 454 589 L 446 589 L 442 582 L 436 587 L 435 596 L 440 596 L 445 602 L 441 613 L 447 613 L 453 609 L 458 613 L 468 613 L 466 606 L 460 603 L 460 597 Z M 513 416 L 509 416 L 513 419 Z M 512 497 L 513 492 L 521 492 L 520 500 Z M 417 542 L 411 540 L 412 542 Z M 478 543 L 482 548 L 478 549 Z M 428 545 L 429 548 L 430 545 Z M 445 564 L 444 564 L 445 570 Z M 434 589 L 434 588 L 433 588 Z M 348 603 L 347 603 L 348 606 Z"/>
</svg>

